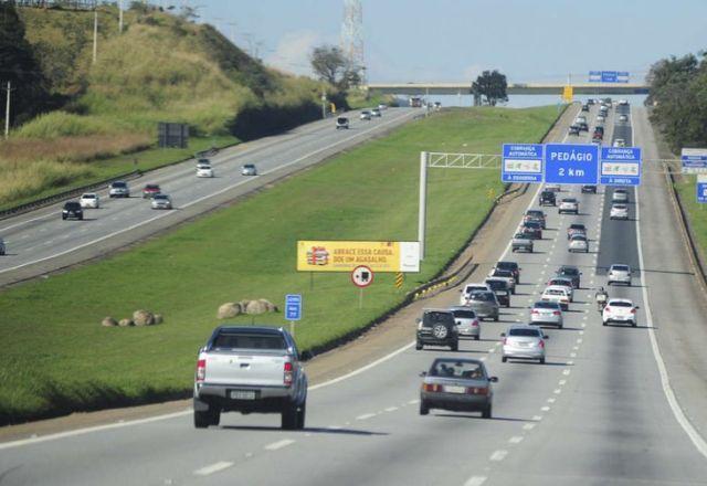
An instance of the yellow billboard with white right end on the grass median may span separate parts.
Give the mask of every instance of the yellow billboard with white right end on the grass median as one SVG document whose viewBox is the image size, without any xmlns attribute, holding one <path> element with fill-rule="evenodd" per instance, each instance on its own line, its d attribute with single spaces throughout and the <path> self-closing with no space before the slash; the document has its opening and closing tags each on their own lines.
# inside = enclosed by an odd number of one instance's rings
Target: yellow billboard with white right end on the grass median
<svg viewBox="0 0 707 486">
<path fill-rule="evenodd" d="M 373 272 L 420 272 L 420 243 L 399 241 L 297 242 L 298 272 L 351 272 L 366 265 Z"/>
</svg>

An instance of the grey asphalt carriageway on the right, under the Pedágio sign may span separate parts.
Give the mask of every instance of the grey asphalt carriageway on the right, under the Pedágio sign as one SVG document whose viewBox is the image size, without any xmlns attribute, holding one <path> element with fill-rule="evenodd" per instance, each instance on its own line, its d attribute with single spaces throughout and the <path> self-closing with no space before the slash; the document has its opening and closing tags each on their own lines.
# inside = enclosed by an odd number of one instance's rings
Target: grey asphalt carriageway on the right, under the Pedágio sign
<svg viewBox="0 0 707 486">
<path fill-rule="evenodd" d="M 652 156 L 657 152 L 645 110 L 632 107 L 631 124 L 625 125 L 615 122 L 614 112 L 605 141 L 620 137 L 631 145 L 634 138 L 647 151 L 645 158 L 657 158 Z M 594 115 L 592 108 L 590 125 Z M 580 140 L 587 141 L 587 135 L 572 136 L 572 141 Z M 197 431 L 191 412 L 184 410 L 0 444 L 0 483 L 706 484 L 707 446 L 699 433 L 704 436 L 707 423 L 707 374 L 705 359 L 698 356 L 707 341 L 699 327 L 704 296 L 665 203 L 664 176 L 644 177 L 641 190 L 630 191 L 629 221 L 608 221 L 611 203 L 604 188 L 598 194 L 581 194 L 579 188 L 564 187 L 559 196 L 577 197 L 580 214 L 558 215 L 546 208 L 548 230 L 532 254 L 509 254 L 506 243 L 520 221 L 519 211 L 509 213 L 504 244 L 496 245 L 495 258 L 479 262 L 471 278 L 482 281 L 496 258 L 520 263 L 518 294 L 500 323 L 485 321 L 482 339 L 463 341 L 453 353 L 415 351 L 415 325 L 410 319 L 409 336 L 383 359 L 310 385 L 302 432 L 281 431 L 277 415 L 239 414 L 223 414 L 221 426 Z M 524 201 L 523 209 L 537 208 L 536 187 Z M 576 221 L 588 228 L 588 254 L 567 251 L 566 230 Z M 665 237 L 655 237 L 656 228 Z M 610 297 L 632 298 L 641 306 L 636 328 L 601 325 L 593 287 L 605 286 L 611 263 L 634 267 L 633 285 L 612 286 Z M 582 270 L 582 288 L 566 313 L 564 328 L 547 329 L 547 363 L 502 363 L 500 332 L 527 320 L 527 306 L 561 264 Z M 682 296 L 679 308 L 675 295 Z M 453 289 L 415 304 L 413 310 L 457 302 Z M 688 338 L 690 344 L 685 342 Z M 437 356 L 485 360 L 499 378 L 492 420 L 434 410 L 419 415 L 418 374 Z M 331 353 L 309 366 L 327 359 Z"/>
</svg>

